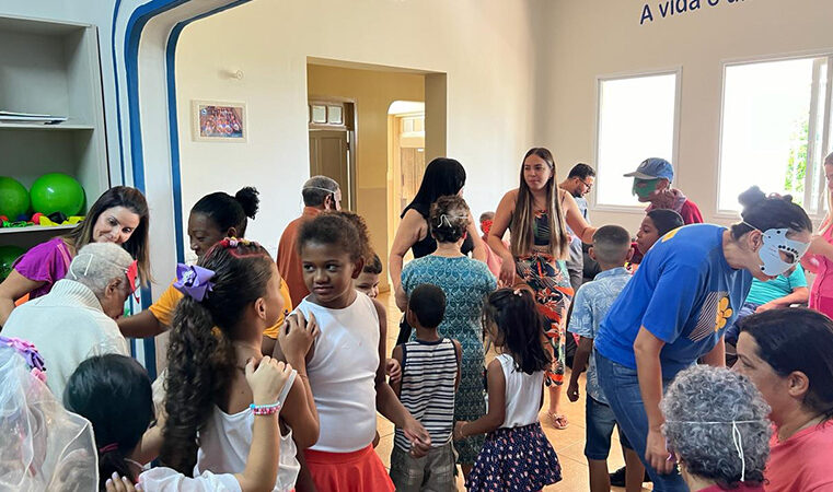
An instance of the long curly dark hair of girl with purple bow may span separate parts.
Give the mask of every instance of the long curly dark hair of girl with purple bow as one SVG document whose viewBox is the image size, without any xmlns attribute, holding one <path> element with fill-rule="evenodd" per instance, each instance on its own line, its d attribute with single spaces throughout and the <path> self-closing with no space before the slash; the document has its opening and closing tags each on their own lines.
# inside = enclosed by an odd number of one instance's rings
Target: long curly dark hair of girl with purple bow
<svg viewBox="0 0 833 492">
<path fill-rule="evenodd" d="M 234 329 L 275 270 L 263 246 L 225 238 L 206 253 L 211 290 L 200 301 L 186 295 L 176 306 L 167 347 L 164 443 L 160 460 L 190 477 L 197 462 L 197 434 L 215 405 L 225 401 L 234 376 Z M 208 279 L 206 279 L 208 280 Z"/>
</svg>

